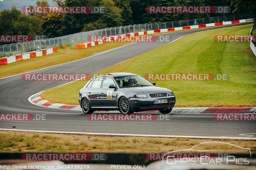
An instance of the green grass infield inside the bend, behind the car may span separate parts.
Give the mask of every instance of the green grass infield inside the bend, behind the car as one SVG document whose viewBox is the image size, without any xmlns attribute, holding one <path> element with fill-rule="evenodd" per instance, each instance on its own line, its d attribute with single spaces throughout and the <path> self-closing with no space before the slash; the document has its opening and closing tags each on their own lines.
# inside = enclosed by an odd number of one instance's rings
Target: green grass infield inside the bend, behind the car
<svg viewBox="0 0 256 170">
<path fill-rule="evenodd" d="M 104 69 L 108 72 L 225 73 L 228 80 L 156 81 L 172 89 L 176 107 L 242 107 L 256 105 L 256 57 L 249 43 L 218 43 L 214 35 L 248 35 L 252 24 L 207 30 L 183 38 L 126 62 Z M 56 103 L 78 104 L 85 81 L 46 90 L 42 97 Z M 68 96 L 68 97 L 66 97 Z"/>
</svg>

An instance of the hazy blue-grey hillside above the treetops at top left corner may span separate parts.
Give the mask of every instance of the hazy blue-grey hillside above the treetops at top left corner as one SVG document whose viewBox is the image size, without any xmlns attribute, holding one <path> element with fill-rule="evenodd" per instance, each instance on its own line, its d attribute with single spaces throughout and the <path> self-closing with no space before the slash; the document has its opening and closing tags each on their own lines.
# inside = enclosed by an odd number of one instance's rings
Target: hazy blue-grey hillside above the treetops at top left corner
<svg viewBox="0 0 256 170">
<path fill-rule="evenodd" d="M 4 9 L 11 9 L 13 5 L 19 10 L 21 10 L 23 6 L 36 6 L 36 1 L 37 0 L 3 0 L 0 1 L 0 11 Z M 55 3 L 52 3 L 52 0 L 47 1 L 50 6 L 57 6 Z"/>
</svg>

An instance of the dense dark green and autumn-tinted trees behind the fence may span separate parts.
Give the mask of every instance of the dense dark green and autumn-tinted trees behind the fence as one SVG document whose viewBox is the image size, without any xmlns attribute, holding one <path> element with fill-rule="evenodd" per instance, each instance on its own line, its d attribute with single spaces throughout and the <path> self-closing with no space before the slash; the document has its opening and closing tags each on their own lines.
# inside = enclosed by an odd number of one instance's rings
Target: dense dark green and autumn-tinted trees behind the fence
<svg viewBox="0 0 256 170">
<path fill-rule="evenodd" d="M 233 13 L 256 13 L 255 0 L 52 0 L 59 6 L 104 6 L 104 14 L 24 14 L 16 7 L 0 11 L 0 35 L 57 37 L 107 27 L 204 18 L 221 14 L 151 14 L 147 6 L 231 6 Z M 37 6 L 49 6 L 47 0 Z"/>
</svg>

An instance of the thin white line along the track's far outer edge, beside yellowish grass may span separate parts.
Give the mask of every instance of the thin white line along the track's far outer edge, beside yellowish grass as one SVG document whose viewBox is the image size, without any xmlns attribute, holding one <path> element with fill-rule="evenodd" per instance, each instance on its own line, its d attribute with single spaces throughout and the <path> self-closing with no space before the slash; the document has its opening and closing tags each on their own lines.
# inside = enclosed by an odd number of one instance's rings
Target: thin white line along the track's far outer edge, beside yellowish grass
<svg viewBox="0 0 256 170">
<path fill-rule="evenodd" d="M 247 22 L 247 23 L 250 24 L 250 22 Z M 242 24 L 242 23 L 237 23 L 237 24 Z M 230 24 L 230 25 L 236 26 L 236 24 Z M 211 27 L 224 27 L 224 28 L 225 28 L 225 26 L 228 26 L 228 25 L 224 25 L 224 26 L 223 26 L 223 25 L 222 25 L 222 26 L 210 26 L 209 28 L 211 28 Z M 200 30 L 209 29 L 209 28 L 200 28 Z M 194 29 L 189 29 L 189 30 L 185 30 L 185 31 L 191 31 L 191 30 L 194 30 Z M 185 31 L 177 31 L 177 32 L 180 33 L 180 32 L 185 32 Z M 170 33 L 177 33 L 177 32 L 170 32 Z M 163 33 L 163 34 L 167 34 L 167 33 Z M 157 34 L 157 35 L 162 35 L 162 34 Z M 140 41 L 138 41 L 138 42 L 140 42 Z M 134 42 L 134 43 L 132 43 L 132 44 L 135 44 L 135 43 L 137 43 L 137 42 Z M 113 49 L 110 49 L 110 50 L 107 50 L 107 51 L 104 51 L 104 52 L 101 52 L 101 53 L 95 54 L 95 55 L 100 55 L 100 54 L 106 53 L 106 52 L 108 52 L 108 51 L 112 51 L 112 50 L 115 50 L 115 49 L 118 49 L 118 48 L 123 48 L 123 47 L 125 47 L 125 46 L 132 45 L 132 44 L 127 44 L 127 45 L 124 45 L 124 46 L 121 46 L 121 47 L 113 48 Z M 74 61 L 70 61 L 70 62 L 67 62 L 67 63 L 71 63 L 71 62 L 83 60 L 83 59 L 85 59 L 85 58 L 93 57 L 93 56 L 95 56 L 95 55 L 88 56 L 88 57 L 84 57 L 84 58 L 81 58 L 81 59 L 78 59 L 78 60 L 74 60 Z M 38 69 L 38 70 L 43 70 L 43 69 L 55 67 L 55 66 L 62 65 L 62 64 L 66 64 L 66 63 L 61 63 L 61 64 L 57 64 L 57 65 L 45 67 L 45 68 Z M 37 71 L 37 70 L 32 70 L 32 71 L 28 71 L 28 72 L 25 72 L 25 73 L 30 73 L 30 72 L 33 72 L 33 71 Z M 25 74 L 25 73 L 20 73 L 20 74 L 16 74 L 16 75 L 4 77 L 4 78 L 19 76 L 19 75 Z M 0 78 L 0 80 L 1 80 L 1 79 L 4 79 L 4 78 Z"/>
</svg>

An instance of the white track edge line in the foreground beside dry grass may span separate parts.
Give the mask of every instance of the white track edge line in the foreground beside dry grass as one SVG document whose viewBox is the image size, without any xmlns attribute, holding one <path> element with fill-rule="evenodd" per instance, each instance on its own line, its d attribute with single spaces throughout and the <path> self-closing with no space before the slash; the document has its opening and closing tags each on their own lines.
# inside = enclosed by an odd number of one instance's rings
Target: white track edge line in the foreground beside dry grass
<svg viewBox="0 0 256 170">
<path fill-rule="evenodd" d="M 204 139 L 212 138 L 212 139 L 256 140 L 256 137 L 206 137 L 206 136 L 176 136 L 176 135 L 140 135 L 140 134 L 86 133 L 86 132 L 65 132 L 65 131 L 47 131 L 47 130 L 23 130 L 23 129 L 0 129 L 0 130 L 44 132 L 44 133 L 84 134 L 84 135 L 114 135 L 114 136 L 139 136 L 139 137 L 182 137 L 182 138 L 204 138 Z"/>
</svg>

